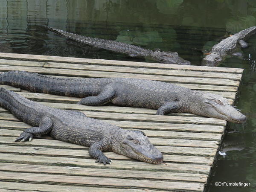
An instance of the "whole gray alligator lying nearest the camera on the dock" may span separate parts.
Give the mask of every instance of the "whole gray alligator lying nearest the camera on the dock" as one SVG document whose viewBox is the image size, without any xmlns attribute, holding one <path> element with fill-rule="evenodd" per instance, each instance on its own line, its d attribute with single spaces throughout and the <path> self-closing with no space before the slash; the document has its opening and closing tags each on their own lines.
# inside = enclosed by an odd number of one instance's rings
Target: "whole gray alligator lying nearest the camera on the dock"
<svg viewBox="0 0 256 192">
<path fill-rule="evenodd" d="M 4 88 L 0 88 L 0 106 L 34 126 L 23 131 L 15 141 L 30 141 L 50 133 L 56 140 L 90 147 L 90 156 L 104 165 L 111 164 L 111 160 L 102 151 L 113 151 L 147 163 L 163 161 L 161 152 L 142 131 L 125 130 L 88 118 L 79 111 L 50 108 Z"/>
</svg>

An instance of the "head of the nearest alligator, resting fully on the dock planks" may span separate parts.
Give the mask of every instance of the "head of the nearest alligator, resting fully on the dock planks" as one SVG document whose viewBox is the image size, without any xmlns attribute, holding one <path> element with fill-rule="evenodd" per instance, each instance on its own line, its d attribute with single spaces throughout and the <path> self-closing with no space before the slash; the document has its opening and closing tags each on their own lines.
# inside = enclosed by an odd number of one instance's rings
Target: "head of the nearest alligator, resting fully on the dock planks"
<svg viewBox="0 0 256 192">
<path fill-rule="evenodd" d="M 163 161 L 162 153 L 154 147 L 142 131 L 123 130 L 115 137 L 112 150 L 132 159 L 146 163 L 160 164 Z"/>
</svg>

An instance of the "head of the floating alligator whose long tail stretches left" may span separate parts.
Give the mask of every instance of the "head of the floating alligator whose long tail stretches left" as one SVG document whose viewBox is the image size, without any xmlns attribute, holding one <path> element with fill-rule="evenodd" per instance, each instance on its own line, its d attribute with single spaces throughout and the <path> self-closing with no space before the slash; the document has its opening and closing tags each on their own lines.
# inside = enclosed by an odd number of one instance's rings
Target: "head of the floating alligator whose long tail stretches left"
<svg viewBox="0 0 256 192">
<path fill-rule="evenodd" d="M 190 65 L 189 61 L 179 57 L 177 52 L 151 51 L 150 56 L 160 63 Z"/>
</svg>

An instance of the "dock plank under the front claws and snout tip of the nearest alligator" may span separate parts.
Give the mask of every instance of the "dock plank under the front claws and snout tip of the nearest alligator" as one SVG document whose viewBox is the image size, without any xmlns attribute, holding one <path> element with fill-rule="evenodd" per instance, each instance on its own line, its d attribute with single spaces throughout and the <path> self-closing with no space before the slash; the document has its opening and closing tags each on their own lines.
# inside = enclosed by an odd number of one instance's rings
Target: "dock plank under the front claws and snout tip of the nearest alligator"
<svg viewBox="0 0 256 192">
<path fill-rule="evenodd" d="M 30 158 L 29 158 L 30 157 Z M 127 169 L 141 171 L 165 171 L 165 172 L 180 172 L 180 173 L 196 173 L 209 175 L 210 166 L 196 165 L 188 163 L 161 163 L 149 164 L 141 161 L 129 160 L 114 160 L 112 165 L 104 166 L 103 164 L 95 163 L 93 159 L 80 159 L 69 157 L 49 157 L 49 156 L 31 156 L 20 154 L 1 153 L 0 162 L 2 163 L 29 163 L 38 165 L 54 165 L 54 166 L 78 166 L 90 167 L 97 169 Z"/>
</svg>

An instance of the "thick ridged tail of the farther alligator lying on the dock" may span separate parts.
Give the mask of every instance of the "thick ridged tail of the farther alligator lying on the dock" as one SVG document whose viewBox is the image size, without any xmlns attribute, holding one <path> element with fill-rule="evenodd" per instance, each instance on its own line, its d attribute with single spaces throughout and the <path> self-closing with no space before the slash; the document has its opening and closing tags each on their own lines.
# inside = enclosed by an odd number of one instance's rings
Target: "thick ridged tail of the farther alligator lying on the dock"
<svg viewBox="0 0 256 192">
<path fill-rule="evenodd" d="M 99 94 L 101 84 L 99 81 L 104 86 L 104 78 L 101 80 L 93 78 L 59 78 L 27 71 L 0 73 L 0 84 L 11 85 L 34 93 L 81 98 Z"/>
</svg>

